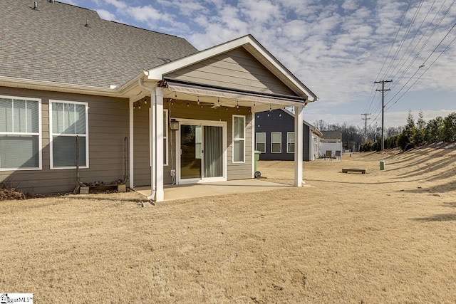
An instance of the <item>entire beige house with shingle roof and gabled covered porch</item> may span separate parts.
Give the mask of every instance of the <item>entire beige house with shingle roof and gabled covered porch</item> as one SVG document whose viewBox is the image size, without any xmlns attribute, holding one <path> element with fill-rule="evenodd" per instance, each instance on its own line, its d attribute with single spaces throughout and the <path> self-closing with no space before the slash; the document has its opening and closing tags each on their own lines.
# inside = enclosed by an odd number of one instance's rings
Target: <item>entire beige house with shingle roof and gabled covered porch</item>
<svg viewBox="0 0 456 304">
<path fill-rule="evenodd" d="M 255 112 L 294 107 L 302 142 L 302 109 L 317 97 L 252 36 L 198 51 L 35 2 L 0 11 L 0 182 L 71 191 L 78 164 L 79 181 L 121 179 L 162 201 L 164 184 L 253 178 Z"/>
</svg>

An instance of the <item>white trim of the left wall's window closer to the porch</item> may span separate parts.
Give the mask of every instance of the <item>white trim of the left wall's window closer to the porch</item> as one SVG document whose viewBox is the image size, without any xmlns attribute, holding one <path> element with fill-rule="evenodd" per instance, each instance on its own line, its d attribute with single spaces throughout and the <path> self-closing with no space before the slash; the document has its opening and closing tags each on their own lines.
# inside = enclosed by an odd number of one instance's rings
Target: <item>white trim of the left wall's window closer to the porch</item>
<svg viewBox="0 0 456 304">
<path fill-rule="evenodd" d="M 69 103 L 73 105 L 85 105 L 86 106 L 86 134 L 83 135 L 86 137 L 86 166 L 79 166 L 79 169 L 88 169 L 89 167 L 89 158 L 88 158 L 88 103 L 79 102 L 79 101 L 69 101 L 69 100 L 49 100 L 49 164 L 51 170 L 60 170 L 60 169 L 76 169 L 76 166 L 72 167 L 54 167 L 54 159 L 53 159 L 53 136 L 54 135 L 62 135 L 62 134 L 54 134 L 52 130 L 52 104 L 53 103 Z M 79 134 L 63 134 L 63 136 L 68 137 L 76 137 Z"/>
</svg>

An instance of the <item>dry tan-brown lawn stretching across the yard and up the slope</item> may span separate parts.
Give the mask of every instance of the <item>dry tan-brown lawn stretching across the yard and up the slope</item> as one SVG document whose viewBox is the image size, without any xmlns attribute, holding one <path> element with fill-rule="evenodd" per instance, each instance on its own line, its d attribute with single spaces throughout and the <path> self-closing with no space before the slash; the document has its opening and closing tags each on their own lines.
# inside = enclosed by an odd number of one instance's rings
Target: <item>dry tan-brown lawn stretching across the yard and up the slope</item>
<svg viewBox="0 0 456 304">
<path fill-rule="evenodd" d="M 292 162 L 259 169 L 293 181 Z M 428 147 L 305 163 L 301 188 L 155 207 L 133 192 L 2 201 L 0 292 L 35 303 L 455 303 L 455 173 L 456 150 Z"/>
</svg>

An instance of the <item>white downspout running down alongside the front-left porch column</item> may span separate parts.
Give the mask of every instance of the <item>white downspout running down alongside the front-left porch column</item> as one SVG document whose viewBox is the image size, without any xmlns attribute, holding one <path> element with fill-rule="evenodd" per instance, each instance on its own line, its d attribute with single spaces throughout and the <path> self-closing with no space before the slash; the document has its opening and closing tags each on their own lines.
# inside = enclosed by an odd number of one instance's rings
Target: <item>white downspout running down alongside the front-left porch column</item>
<svg viewBox="0 0 456 304">
<path fill-rule="evenodd" d="M 150 195 L 147 196 L 147 199 L 149 201 L 154 201 L 155 200 L 155 195 L 156 195 L 156 189 L 157 189 L 157 159 L 155 159 L 156 155 L 156 145 L 155 145 L 155 137 L 157 137 L 157 127 L 155 126 L 155 122 L 157 121 L 157 112 L 155 110 L 155 103 L 157 100 L 155 99 L 155 88 L 149 88 L 147 87 L 143 82 L 142 78 L 138 79 L 138 85 L 140 85 L 141 88 L 150 91 L 150 130 L 149 130 L 149 137 L 150 137 L 150 159 L 151 159 L 151 168 L 150 168 Z M 154 140 L 152 140 L 154 139 Z"/>
</svg>

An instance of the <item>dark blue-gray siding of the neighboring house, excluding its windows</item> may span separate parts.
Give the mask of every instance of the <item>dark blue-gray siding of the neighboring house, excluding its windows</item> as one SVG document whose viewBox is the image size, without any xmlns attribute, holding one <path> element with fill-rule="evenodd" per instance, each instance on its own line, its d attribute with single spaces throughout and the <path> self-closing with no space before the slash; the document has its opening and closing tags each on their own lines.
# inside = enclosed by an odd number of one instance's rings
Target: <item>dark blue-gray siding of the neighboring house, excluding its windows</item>
<svg viewBox="0 0 456 304">
<path fill-rule="evenodd" d="M 286 136 L 287 132 L 294 132 L 294 117 L 284 112 L 284 110 L 272 110 L 271 112 L 255 113 L 255 133 L 266 133 L 266 153 L 261 153 L 261 160 L 294 160 L 294 153 L 286 152 Z M 268 116 L 269 115 L 269 116 Z M 309 126 L 303 122 L 303 159 L 304 161 L 311 160 L 310 157 L 310 141 L 311 135 Z M 271 153 L 271 133 L 281 132 L 281 153 Z"/>
</svg>

